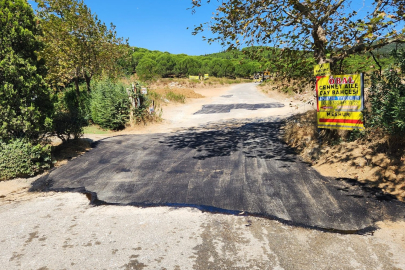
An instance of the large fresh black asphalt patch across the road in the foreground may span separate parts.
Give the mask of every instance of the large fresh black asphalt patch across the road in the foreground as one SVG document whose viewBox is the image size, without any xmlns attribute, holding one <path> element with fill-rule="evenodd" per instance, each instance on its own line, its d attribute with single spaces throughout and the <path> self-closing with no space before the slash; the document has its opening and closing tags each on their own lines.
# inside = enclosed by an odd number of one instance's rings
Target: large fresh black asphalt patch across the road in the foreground
<svg viewBox="0 0 405 270">
<path fill-rule="evenodd" d="M 302 162 L 281 141 L 281 124 L 235 121 L 107 138 L 32 190 L 89 192 L 106 204 L 244 212 L 342 233 L 405 219 L 404 203 L 351 179 L 322 177 Z"/>
</svg>

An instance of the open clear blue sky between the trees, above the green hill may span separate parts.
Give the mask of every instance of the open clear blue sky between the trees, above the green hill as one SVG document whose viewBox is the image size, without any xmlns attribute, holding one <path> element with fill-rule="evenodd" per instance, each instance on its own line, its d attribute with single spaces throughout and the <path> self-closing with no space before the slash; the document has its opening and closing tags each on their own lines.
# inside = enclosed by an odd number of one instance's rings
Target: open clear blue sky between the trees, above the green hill
<svg viewBox="0 0 405 270">
<path fill-rule="evenodd" d="M 36 8 L 34 1 L 28 1 Z M 210 20 L 217 1 L 197 8 L 192 14 L 191 0 L 84 0 L 106 25 L 112 22 L 119 37 L 148 50 L 173 54 L 203 55 L 222 51 L 220 44 L 209 45 L 201 34 L 192 35 L 194 25 Z M 189 29 L 187 29 L 189 27 Z M 204 33 L 209 36 L 209 33 Z"/>
</svg>

